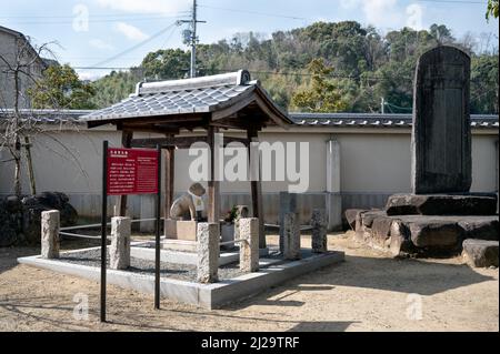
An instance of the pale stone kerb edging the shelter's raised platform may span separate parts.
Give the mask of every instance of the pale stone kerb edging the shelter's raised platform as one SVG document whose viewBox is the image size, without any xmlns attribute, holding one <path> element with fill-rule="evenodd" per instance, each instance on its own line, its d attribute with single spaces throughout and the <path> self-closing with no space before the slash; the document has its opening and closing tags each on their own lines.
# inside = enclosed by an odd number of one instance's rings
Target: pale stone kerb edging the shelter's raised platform
<svg viewBox="0 0 500 354">
<path fill-rule="evenodd" d="M 72 251 L 74 252 L 74 251 Z M 78 251 L 78 252 L 81 252 Z M 241 301 L 259 292 L 308 274 L 314 270 L 342 262 L 342 252 L 329 252 L 312 255 L 294 262 L 262 259 L 259 262 L 260 271 L 249 273 L 216 284 L 199 284 L 193 282 L 161 279 L 161 297 L 181 303 L 192 304 L 208 310 L 218 309 L 232 302 Z M 100 280 L 100 269 L 78 265 L 52 260 L 42 260 L 40 256 L 18 259 L 21 264 L 41 267 L 63 274 L 81 276 L 91 281 Z M 154 292 L 154 276 L 130 273 L 126 271 L 107 272 L 108 284 L 131 289 L 147 294 Z"/>
</svg>

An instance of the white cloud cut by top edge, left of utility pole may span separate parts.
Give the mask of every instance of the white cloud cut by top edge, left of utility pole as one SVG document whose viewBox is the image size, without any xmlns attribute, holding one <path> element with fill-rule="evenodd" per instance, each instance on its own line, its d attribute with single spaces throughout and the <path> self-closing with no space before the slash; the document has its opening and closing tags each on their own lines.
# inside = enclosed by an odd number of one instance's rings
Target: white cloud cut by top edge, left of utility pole
<svg viewBox="0 0 500 354">
<path fill-rule="evenodd" d="M 126 12 L 176 14 L 190 10 L 192 0 L 97 0 L 97 3 Z"/>
</svg>

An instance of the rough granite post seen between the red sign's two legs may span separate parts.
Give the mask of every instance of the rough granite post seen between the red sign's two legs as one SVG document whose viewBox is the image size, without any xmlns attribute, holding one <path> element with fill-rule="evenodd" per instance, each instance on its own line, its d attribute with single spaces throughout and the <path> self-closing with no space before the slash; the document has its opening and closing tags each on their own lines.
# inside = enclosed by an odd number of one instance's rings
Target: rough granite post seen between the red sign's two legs
<svg viewBox="0 0 500 354">
<path fill-rule="evenodd" d="M 109 247 L 110 269 L 127 270 L 130 266 L 130 218 L 111 219 L 111 246 Z"/>
</svg>

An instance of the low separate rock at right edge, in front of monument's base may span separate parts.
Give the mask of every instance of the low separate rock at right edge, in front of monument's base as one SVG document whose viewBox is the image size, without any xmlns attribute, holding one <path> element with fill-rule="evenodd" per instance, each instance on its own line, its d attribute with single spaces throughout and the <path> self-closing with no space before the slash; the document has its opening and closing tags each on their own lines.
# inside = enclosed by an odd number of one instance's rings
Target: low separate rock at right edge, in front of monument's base
<svg viewBox="0 0 500 354">
<path fill-rule="evenodd" d="M 498 241 L 466 240 L 463 257 L 474 267 L 498 266 Z"/>
</svg>

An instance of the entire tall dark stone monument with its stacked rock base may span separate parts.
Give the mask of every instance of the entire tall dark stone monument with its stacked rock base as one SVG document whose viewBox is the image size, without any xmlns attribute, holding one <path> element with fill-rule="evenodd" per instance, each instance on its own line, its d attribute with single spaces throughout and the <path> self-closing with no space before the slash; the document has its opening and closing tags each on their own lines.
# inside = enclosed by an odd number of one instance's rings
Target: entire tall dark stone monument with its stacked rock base
<svg viewBox="0 0 500 354">
<path fill-rule="evenodd" d="M 470 193 L 469 55 L 448 45 L 423 53 L 413 90 L 411 193 L 391 195 L 386 210 L 347 211 L 356 239 L 396 256 L 457 254 L 468 239 L 498 244 L 497 195 Z"/>
</svg>

